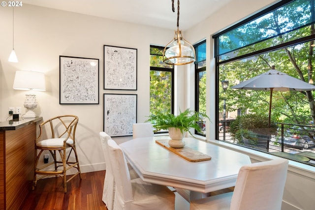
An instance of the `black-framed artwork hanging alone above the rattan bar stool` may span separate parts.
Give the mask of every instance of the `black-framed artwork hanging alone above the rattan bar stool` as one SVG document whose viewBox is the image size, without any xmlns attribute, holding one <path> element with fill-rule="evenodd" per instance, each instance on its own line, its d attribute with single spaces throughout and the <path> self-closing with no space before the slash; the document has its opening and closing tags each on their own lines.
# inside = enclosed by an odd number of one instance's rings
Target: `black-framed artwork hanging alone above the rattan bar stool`
<svg viewBox="0 0 315 210">
<path fill-rule="evenodd" d="M 59 104 L 99 104 L 99 60 L 59 56 Z"/>
</svg>

